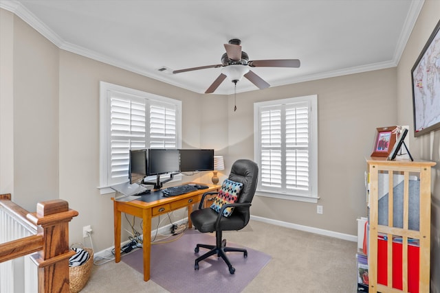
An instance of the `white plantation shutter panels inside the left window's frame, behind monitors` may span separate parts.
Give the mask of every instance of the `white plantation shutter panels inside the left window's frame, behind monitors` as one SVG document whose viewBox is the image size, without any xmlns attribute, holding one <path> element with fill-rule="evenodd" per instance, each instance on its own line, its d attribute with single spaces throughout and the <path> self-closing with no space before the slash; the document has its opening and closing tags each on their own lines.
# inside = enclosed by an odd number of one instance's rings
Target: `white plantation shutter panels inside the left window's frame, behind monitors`
<svg viewBox="0 0 440 293">
<path fill-rule="evenodd" d="M 130 149 L 177 148 L 177 106 L 111 92 L 110 113 L 109 185 L 128 178 Z"/>
</svg>

